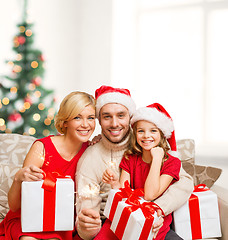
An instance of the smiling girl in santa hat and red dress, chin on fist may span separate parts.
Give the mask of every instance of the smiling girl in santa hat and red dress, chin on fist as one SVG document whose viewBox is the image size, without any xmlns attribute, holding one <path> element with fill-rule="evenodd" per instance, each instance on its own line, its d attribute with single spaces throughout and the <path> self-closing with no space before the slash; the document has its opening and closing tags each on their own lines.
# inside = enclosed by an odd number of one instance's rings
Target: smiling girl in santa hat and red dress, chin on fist
<svg viewBox="0 0 228 240">
<path fill-rule="evenodd" d="M 173 121 L 160 104 L 154 103 L 138 109 L 133 114 L 131 125 L 131 147 L 120 163 L 120 179 L 107 169 L 103 181 L 111 184 L 112 188 L 119 188 L 128 180 L 131 188 L 144 188 L 145 200 L 153 201 L 170 184 L 179 180 L 181 162 L 173 156 L 176 151 Z M 167 142 L 173 150 L 172 155 Z M 171 214 L 164 218 L 156 239 L 165 239 L 171 221 Z"/>
</svg>

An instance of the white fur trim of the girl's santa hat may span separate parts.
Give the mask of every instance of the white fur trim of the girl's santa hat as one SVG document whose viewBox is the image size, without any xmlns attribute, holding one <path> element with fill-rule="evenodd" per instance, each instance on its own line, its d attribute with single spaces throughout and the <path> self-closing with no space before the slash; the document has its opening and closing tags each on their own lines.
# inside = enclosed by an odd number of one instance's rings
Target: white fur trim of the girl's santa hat
<svg viewBox="0 0 228 240">
<path fill-rule="evenodd" d="M 131 119 L 131 125 L 140 120 L 146 120 L 154 123 L 168 139 L 174 131 L 174 125 L 171 118 L 159 112 L 157 109 L 142 107 L 139 108 Z"/>
</svg>

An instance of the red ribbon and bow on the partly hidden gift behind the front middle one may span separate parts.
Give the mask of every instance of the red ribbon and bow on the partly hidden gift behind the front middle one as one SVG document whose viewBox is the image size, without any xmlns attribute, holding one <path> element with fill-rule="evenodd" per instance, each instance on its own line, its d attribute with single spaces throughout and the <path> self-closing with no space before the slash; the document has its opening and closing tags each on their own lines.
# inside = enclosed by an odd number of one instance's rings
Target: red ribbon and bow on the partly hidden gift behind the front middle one
<svg viewBox="0 0 228 240">
<path fill-rule="evenodd" d="M 116 212 L 116 208 L 118 205 L 118 202 L 122 201 L 123 198 L 129 198 L 130 196 L 134 195 L 135 198 L 142 197 L 144 196 L 144 191 L 143 189 L 136 189 L 136 190 L 132 190 L 130 188 L 130 184 L 128 181 L 124 182 L 124 188 L 120 188 L 120 192 L 117 192 L 113 198 L 112 201 L 112 206 L 110 209 L 110 213 L 109 213 L 109 220 L 112 221 L 114 214 Z"/>
</svg>

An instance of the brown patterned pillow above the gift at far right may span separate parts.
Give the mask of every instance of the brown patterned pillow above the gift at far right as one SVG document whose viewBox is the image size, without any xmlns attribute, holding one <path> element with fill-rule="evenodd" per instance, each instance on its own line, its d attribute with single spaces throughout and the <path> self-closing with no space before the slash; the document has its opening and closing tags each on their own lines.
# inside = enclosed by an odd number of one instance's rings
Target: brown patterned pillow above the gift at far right
<svg viewBox="0 0 228 240">
<path fill-rule="evenodd" d="M 222 173 L 222 169 L 210 166 L 195 165 L 196 183 L 211 188 Z"/>
</svg>

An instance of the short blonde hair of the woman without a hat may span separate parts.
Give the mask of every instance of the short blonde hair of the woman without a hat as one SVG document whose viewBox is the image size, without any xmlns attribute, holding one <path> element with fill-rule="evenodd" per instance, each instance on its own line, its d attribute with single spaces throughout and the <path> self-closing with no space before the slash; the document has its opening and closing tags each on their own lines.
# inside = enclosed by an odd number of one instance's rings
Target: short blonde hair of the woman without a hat
<svg viewBox="0 0 228 240">
<path fill-rule="evenodd" d="M 61 102 L 55 116 L 55 127 L 59 133 L 65 134 L 64 122 L 74 119 L 85 107 L 91 105 L 95 110 L 95 99 L 85 92 L 72 92 Z"/>
</svg>

